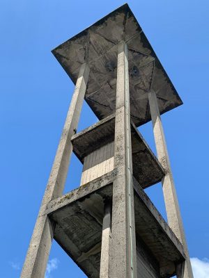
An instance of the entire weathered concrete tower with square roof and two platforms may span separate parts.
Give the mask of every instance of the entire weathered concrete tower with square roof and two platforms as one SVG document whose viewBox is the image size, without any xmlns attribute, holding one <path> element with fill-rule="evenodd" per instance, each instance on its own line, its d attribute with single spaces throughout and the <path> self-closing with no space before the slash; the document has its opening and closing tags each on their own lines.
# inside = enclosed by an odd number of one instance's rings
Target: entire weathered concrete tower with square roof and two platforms
<svg viewBox="0 0 209 278">
<path fill-rule="evenodd" d="M 22 278 L 44 278 L 52 240 L 91 278 L 192 278 L 160 115 L 182 103 L 127 4 L 52 51 L 75 92 Z M 75 133 L 84 99 L 99 122 Z M 137 127 L 152 120 L 157 158 Z M 70 156 L 81 183 L 63 195 Z M 144 188 L 162 181 L 168 223 Z"/>
</svg>

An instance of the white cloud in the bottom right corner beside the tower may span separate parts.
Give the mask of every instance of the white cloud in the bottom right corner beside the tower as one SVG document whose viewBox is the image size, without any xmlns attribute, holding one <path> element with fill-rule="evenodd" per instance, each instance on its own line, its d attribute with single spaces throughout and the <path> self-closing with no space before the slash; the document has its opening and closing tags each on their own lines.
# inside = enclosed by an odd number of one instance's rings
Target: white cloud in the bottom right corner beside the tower
<svg viewBox="0 0 209 278">
<path fill-rule="evenodd" d="M 209 278 L 209 259 L 191 258 L 194 278 Z"/>
</svg>

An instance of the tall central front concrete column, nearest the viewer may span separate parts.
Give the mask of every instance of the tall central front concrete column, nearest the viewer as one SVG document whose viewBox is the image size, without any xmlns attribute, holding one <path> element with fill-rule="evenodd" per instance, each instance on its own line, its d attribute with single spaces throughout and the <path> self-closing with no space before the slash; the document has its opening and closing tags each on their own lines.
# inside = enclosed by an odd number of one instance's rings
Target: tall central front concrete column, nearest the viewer
<svg viewBox="0 0 209 278">
<path fill-rule="evenodd" d="M 127 45 L 118 44 L 110 277 L 137 277 Z"/>
</svg>

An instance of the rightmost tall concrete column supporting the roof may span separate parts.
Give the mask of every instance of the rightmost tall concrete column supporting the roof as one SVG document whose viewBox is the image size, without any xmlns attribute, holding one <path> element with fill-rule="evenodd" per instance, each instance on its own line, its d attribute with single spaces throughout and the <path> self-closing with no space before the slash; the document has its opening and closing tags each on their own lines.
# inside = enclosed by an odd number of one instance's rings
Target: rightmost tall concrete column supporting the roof
<svg viewBox="0 0 209 278">
<path fill-rule="evenodd" d="M 178 205 L 178 199 L 176 195 L 176 189 L 173 182 L 173 176 L 171 172 L 171 165 L 169 161 L 169 154 L 167 151 L 166 140 L 164 138 L 164 131 L 160 118 L 160 111 L 157 104 L 157 97 L 155 92 L 148 93 L 148 100 L 150 105 L 150 113 L 153 121 L 153 132 L 155 137 L 155 145 L 157 149 L 157 158 L 164 167 L 166 172 L 164 179 L 162 179 L 162 188 L 164 193 L 164 202 L 167 210 L 167 218 L 169 226 L 176 234 L 180 243 L 183 244 L 187 259 L 183 265 L 183 278 L 193 278 L 192 266 L 189 259 L 189 252 L 187 249 L 187 243 L 185 240 L 185 232 L 183 229 L 183 222 L 180 216 L 180 209 Z M 178 276 L 181 278 L 181 276 Z"/>
</svg>

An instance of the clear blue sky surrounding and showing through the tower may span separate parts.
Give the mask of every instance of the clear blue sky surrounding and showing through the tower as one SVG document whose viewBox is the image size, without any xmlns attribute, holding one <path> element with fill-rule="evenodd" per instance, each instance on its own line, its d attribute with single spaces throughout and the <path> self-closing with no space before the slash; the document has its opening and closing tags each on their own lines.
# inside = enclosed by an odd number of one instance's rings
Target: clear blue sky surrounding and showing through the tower
<svg viewBox="0 0 209 278">
<path fill-rule="evenodd" d="M 1 0 L 1 268 L 20 277 L 72 97 L 51 50 L 121 6 L 119 0 Z M 130 0 L 184 105 L 162 116 L 195 278 L 209 277 L 208 0 Z M 84 104 L 79 130 L 96 121 Z M 151 124 L 140 129 L 155 152 Z M 79 185 L 72 156 L 65 193 Z M 165 217 L 160 184 L 147 190 Z M 196 258 L 196 259 L 195 259 Z M 55 242 L 47 278 L 85 277 Z"/>
</svg>

